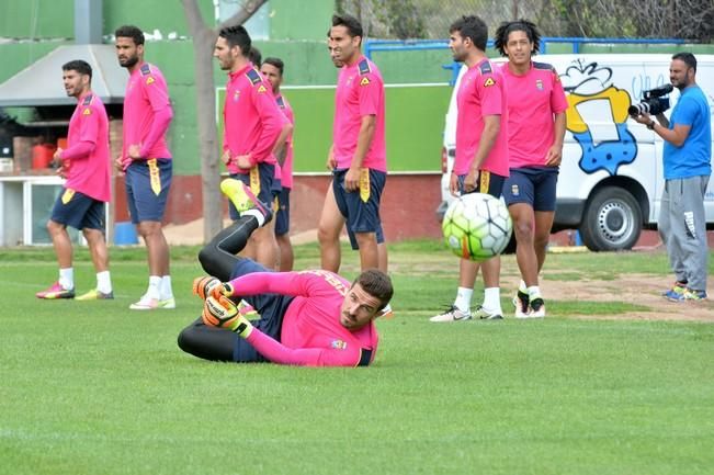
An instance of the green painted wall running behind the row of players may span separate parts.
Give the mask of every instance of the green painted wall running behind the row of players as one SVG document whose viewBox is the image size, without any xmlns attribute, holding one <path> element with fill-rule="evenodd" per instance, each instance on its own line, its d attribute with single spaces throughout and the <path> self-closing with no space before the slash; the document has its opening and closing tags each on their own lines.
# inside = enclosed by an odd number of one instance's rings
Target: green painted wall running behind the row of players
<svg viewBox="0 0 714 475">
<path fill-rule="evenodd" d="M 213 23 L 213 0 L 199 0 L 204 20 Z M 270 0 L 270 42 L 256 42 L 267 56 L 285 61 L 285 93 L 297 120 L 295 157 L 297 171 L 325 171 L 331 142 L 333 89 L 294 89 L 299 86 L 332 87 L 337 70 L 327 54 L 325 34 L 330 25 L 333 0 Z M 158 65 L 169 82 L 174 120 L 169 132 L 175 157 L 177 174 L 200 172 L 199 140 L 195 124 L 196 98 L 193 47 L 180 0 L 103 0 L 103 32 L 111 35 L 125 23 L 147 32 L 159 30 L 177 41 L 149 42 L 146 59 Z M 73 0 L 0 0 L 0 37 L 21 42 L 0 44 L 0 82 L 12 77 L 53 48 L 71 43 Z M 583 53 L 673 53 L 682 46 L 582 45 Z M 714 54 L 714 45 L 688 45 L 694 53 Z M 551 44 L 548 53 L 570 53 L 570 45 Z M 496 56 L 495 52 L 489 52 Z M 209 53 L 206 53 L 209 54 Z M 450 89 L 418 87 L 420 83 L 445 84 L 451 72 L 442 65 L 452 63 L 447 49 L 422 52 L 375 52 L 373 60 L 387 84 L 413 84 L 387 88 L 387 156 L 392 170 L 438 170 L 443 117 Z M 214 64 L 215 65 L 215 64 Z M 55 79 L 53 79 L 55 80 Z M 214 66 L 217 88 L 226 81 L 224 71 Z M 32 109 L 11 110 L 26 117 Z"/>
</svg>

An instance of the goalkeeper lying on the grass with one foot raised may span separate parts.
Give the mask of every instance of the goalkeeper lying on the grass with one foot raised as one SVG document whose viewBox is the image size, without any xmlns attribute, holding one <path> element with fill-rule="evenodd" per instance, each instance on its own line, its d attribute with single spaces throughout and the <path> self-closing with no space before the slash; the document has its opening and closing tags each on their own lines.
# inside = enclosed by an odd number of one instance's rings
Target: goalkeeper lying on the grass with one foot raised
<svg viewBox="0 0 714 475">
<path fill-rule="evenodd" d="M 213 278 L 194 281 L 203 315 L 181 331 L 179 347 L 212 361 L 369 365 L 378 341 L 374 319 L 393 294 L 389 278 L 373 269 L 350 285 L 332 272 L 277 273 L 235 256 L 271 212 L 238 180 L 224 180 L 220 189 L 241 217 L 199 253 Z M 249 321 L 236 304 L 241 299 L 260 318 Z"/>
</svg>

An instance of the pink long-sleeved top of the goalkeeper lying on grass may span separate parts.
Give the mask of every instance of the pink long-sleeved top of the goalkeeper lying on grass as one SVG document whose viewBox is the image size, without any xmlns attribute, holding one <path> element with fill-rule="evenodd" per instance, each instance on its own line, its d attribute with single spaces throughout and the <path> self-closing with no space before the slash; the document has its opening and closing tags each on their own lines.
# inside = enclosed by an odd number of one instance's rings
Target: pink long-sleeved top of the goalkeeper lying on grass
<svg viewBox="0 0 714 475">
<path fill-rule="evenodd" d="M 373 321 L 352 332 L 340 324 L 350 283 L 329 271 L 258 272 L 230 281 L 241 296 L 294 295 L 283 317 L 281 341 L 257 328 L 247 338 L 273 363 L 358 366 L 374 360 L 379 336 Z"/>
</svg>

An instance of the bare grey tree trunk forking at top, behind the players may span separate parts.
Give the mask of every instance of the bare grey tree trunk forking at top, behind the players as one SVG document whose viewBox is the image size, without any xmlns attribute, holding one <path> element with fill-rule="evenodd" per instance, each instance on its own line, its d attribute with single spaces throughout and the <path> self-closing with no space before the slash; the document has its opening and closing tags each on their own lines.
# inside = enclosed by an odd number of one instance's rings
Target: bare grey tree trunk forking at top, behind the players
<svg viewBox="0 0 714 475">
<path fill-rule="evenodd" d="M 193 64 L 196 79 L 196 121 L 201 154 L 201 184 L 203 196 L 203 239 L 205 242 L 223 227 L 219 186 L 219 144 L 216 127 L 216 88 L 213 79 L 213 48 L 218 32 L 225 26 L 243 24 L 267 0 L 246 0 L 240 10 L 216 27 L 208 26 L 197 0 L 181 0 L 183 12 L 193 36 Z"/>
</svg>

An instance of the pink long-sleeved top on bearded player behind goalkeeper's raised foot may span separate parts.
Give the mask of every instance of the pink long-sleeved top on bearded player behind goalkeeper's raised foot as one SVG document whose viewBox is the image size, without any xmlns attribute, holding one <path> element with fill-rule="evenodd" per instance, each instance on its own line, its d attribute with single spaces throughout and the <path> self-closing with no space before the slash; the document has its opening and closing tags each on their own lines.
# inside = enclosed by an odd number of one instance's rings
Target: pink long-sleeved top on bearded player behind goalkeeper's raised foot
<svg viewBox="0 0 714 475">
<path fill-rule="evenodd" d="M 276 163 L 273 146 L 283 129 L 283 114 L 277 109 L 272 87 L 252 63 L 228 73 L 226 101 L 223 108 L 223 149 L 230 157 L 250 154 L 251 167 Z M 230 161 L 230 173 L 247 174 L 248 168 L 238 168 Z"/>
</svg>

